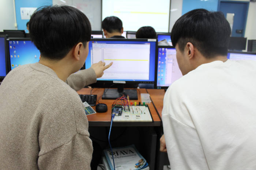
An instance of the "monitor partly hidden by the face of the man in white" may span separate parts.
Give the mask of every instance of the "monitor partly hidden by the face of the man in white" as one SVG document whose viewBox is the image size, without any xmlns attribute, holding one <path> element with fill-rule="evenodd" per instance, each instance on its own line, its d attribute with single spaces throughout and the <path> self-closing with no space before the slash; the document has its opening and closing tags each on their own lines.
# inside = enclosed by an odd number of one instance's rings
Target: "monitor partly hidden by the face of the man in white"
<svg viewBox="0 0 256 170">
<path fill-rule="evenodd" d="M 158 46 L 155 88 L 166 89 L 182 77 L 173 46 Z"/>
</svg>

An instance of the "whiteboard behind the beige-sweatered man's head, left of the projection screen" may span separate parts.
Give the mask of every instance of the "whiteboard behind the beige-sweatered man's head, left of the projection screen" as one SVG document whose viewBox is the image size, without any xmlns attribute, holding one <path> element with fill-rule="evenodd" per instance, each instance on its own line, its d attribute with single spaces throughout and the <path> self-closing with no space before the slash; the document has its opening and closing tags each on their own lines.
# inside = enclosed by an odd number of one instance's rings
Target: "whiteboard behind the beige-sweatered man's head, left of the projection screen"
<svg viewBox="0 0 256 170">
<path fill-rule="evenodd" d="M 69 5 L 82 11 L 93 31 L 101 31 L 101 0 L 53 0 L 53 5 Z"/>
</svg>

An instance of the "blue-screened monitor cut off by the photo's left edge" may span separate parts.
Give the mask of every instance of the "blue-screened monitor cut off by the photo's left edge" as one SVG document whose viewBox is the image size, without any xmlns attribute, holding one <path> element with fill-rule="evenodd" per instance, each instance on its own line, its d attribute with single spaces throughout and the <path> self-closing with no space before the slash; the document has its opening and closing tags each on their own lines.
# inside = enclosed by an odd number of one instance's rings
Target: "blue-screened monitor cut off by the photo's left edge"
<svg viewBox="0 0 256 170">
<path fill-rule="evenodd" d="M 5 39 L 5 35 L 0 35 L 0 82 L 4 79 L 7 73 Z"/>
</svg>

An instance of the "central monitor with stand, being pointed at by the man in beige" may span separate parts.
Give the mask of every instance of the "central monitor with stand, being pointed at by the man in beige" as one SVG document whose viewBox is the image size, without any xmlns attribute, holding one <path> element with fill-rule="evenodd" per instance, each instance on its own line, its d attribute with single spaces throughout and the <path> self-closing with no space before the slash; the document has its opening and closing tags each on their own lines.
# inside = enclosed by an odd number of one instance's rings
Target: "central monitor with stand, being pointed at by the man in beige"
<svg viewBox="0 0 256 170">
<path fill-rule="evenodd" d="M 117 83 L 117 89 L 105 89 L 102 99 L 129 95 L 137 100 L 136 90 L 123 89 L 124 83 L 154 83 L 157 39 L 92 39 L 85 68 L 103 61 L 113 65 L 97 81 Z"/>
</svg>

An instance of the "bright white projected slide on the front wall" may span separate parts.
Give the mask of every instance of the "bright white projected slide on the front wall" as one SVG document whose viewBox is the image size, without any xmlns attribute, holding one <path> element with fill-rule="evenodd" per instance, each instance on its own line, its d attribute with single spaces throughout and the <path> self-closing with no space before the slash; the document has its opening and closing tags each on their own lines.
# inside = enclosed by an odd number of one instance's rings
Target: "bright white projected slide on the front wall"
<svg viewBox="0 0 256 170">
<path fill-rule="evenodd" d="M 102 20 L 117 16 L 125 31 L 151 26 L 156 32 L 169 31 L 170 0 L 102 0 Z"/>
</svg>

